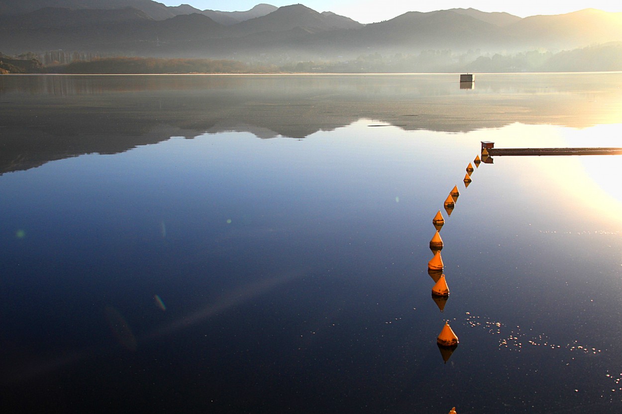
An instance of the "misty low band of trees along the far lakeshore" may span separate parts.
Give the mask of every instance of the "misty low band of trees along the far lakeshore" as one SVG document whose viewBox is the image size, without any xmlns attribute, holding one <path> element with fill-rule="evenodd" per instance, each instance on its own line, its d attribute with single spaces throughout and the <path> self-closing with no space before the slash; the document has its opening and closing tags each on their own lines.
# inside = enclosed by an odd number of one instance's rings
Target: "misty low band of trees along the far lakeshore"
<svg viewBox="0 0 622 414">
<path fill-rule="evenodd" d="M 84 53 L 73 53 L 83 57 Z M 417 54 L 381 55 L 370 53 L 343 62 L 299 60 L 280 65 L 264 62 L 240 62 L 226 59 L 91 57 L 68 63 L 53 61 L 47 65 L 38 55 L 0 53 L 0 74 L 184 74 L 184 73 L 456 73 L 456 72 L 550 72 L 550 71 L 622 71 L 622 42 L 594 45 L 553 53 L 533 50 L 504 55 L 486 55 L 476 51 L 452 53 L 450 50 L 424 50 Z"/>
</svg>

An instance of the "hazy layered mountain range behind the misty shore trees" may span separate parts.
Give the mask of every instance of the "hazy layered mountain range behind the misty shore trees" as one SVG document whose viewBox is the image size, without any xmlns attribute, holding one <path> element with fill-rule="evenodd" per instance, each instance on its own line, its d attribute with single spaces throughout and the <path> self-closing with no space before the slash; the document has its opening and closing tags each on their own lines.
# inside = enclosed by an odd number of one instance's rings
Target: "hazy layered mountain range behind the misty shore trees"
<svg viewBox="0 0 622 414">
<path fill-rule="evenodd" d="M 0 52 L 46 50 L 249 62 L 347 60 L 422 50 L 559 51 L 622 41 L 622 13 L 596 9 L 521 18 L 450 9 L 361 24 L 302 4 L 249 11 L 152 0 L 0 0 Z"/>
</svg>

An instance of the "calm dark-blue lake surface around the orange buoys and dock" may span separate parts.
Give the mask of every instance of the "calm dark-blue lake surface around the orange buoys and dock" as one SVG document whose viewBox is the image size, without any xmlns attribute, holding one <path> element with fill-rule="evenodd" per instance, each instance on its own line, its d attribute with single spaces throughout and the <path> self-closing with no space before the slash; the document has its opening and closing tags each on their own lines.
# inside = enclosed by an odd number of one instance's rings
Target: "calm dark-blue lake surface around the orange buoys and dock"
<svg viewBox="0 0 622 414">
<path fill-rule="evenodd" d="M 622 147 L 621 87 L 0 76 L 3 410 L 622 412 L 622 157 L 463 183 Z"/>
</svg>

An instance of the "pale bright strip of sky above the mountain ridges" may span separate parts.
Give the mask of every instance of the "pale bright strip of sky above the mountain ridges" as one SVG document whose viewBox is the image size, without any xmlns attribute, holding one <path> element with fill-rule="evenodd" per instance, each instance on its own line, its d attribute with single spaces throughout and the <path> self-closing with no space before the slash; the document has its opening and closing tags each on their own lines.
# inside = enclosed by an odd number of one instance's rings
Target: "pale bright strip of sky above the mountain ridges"
<svg viewBox="0 0 622 414">
<path fill-rule="evenodd" d="M 221 11 L 245 11 L 256 4 L 267 3 L 272 6 L 289 6 L 301 2 L 315 11 L 332 11 L 341 16 L 350 17 L 361 23 L 373 23 L 389 20 L 407 11 L 434 11 L 462 7 L 473 7 L 485 12 L 508 12 L 519 17 L 536 14 L 562 14 L 582 9 L 600 9 L 610 12 L 622 12 L 622 2 L 613 0 L 435 0 L 415 2 L 404 0 L 156 0 L 167 6 L 190 4 L 197 9 Z"/>
</svg>

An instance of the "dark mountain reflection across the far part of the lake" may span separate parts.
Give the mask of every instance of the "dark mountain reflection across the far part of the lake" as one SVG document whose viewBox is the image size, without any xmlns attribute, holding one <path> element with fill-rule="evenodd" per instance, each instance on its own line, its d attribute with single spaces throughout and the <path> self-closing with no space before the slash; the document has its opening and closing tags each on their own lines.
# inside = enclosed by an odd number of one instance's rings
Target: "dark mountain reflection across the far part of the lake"
<svg viewBox="0 0 622 414">
<path fill-rule="evenodd" d="M 0 173 L 171 136 L 223 131 L 305 138 L 374 119 L 468 132 L 622 122 L 622 73 L 478 75 L 2 76 Z M 379 132 L 382 133 L 382 132 Z M 44 145 L 42 145 L 42 142 Z"/>
</svg>

